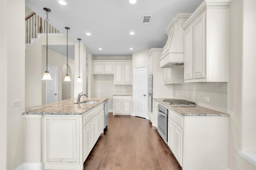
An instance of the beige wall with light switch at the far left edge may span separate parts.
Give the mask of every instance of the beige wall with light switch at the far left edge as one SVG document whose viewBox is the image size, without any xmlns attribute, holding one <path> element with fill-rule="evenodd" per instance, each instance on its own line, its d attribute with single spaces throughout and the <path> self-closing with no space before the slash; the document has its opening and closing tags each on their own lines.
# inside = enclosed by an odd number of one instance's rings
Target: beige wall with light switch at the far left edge
<svg viewBox="0 0 256 170">
<path fill-rule="evenodd" d="M 0 169 L 23 164 L 23 119 L 25 85 L 24 0 L 0 1 Z M 15 22 L 13 22 L 15 21 Z M 17 29 L 17 25 L 21 29 Z M 12 107 L 12 101 L 21 100 Z"/>
</svg>

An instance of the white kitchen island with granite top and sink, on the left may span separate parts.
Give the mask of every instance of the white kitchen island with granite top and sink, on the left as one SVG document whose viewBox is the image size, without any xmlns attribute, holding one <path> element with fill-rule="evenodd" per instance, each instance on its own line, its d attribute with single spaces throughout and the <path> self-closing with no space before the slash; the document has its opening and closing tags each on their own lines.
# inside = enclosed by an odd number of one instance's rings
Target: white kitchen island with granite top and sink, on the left
<svg viewBox="0 0 256 170">
<path fill-rule="evenodd" d="M 67 99 L 28 107 L 24 117 L 25 166 L 33 170 L 82 170 L 104 129 L 108 98 Z M 84 101 L 97 101 L 86 104 Z"/>
</svg>

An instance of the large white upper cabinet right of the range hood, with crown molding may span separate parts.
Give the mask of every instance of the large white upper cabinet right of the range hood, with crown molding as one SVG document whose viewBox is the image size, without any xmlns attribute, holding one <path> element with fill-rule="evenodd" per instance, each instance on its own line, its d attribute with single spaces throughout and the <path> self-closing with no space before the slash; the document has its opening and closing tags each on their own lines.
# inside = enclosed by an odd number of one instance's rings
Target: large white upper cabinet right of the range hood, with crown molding
<svg viewBox="0 0 256 170">
<path fill-rule="evenodd" d="M 228 82 L 229 6 L 204 1 L 182 26 L 185 83 Z"/>
</svg>

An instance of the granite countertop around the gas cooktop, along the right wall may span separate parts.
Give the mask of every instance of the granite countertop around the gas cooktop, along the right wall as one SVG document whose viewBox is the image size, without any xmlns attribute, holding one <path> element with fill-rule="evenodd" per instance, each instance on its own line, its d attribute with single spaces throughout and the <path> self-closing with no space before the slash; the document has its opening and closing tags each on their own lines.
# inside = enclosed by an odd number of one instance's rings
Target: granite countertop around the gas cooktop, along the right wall
<svg viewBox="0 0 256 170">
<path fill-rule="evenodd" d="M 229 116 L 228 113 L 223 113 L 220 111 L 215 111 L 212 109 L 208 109 L 206 107 L 198 106 L 198 105 L 190 105 L 190 106 L 174 106 L 169 105 L 168 103 L 163 102 L 163 98 L 154 98 L 154 100 L 162 105 L 168 107 L 180 113 L 183 116 Z"/>
</svg>

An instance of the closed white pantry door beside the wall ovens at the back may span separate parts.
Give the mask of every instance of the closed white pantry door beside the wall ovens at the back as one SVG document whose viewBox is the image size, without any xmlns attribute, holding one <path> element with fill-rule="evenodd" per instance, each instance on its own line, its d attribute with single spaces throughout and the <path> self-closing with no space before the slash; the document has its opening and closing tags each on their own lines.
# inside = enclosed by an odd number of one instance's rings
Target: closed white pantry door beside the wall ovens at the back
<svg viewBox="0 0 256 170">
<path fill-rule="evenodd" d="M 134 68 L 134 115 L 148 119 L 148 67 Z"/>
</svg>

